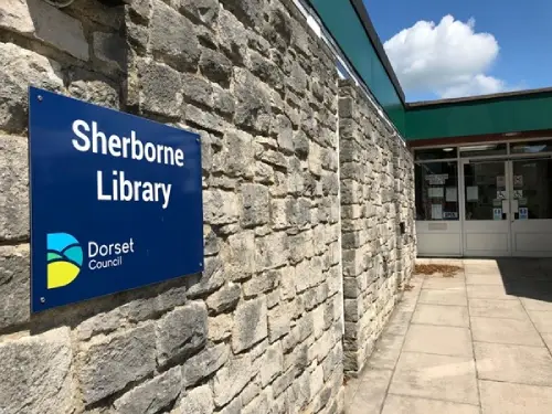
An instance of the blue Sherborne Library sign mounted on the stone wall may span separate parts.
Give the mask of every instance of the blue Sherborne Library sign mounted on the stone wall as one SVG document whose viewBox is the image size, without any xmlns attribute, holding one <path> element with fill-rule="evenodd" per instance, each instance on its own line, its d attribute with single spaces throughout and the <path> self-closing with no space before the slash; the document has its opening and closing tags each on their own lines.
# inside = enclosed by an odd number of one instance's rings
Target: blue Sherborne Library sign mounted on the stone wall
<svg viewBox="0 0 552 414">
<path fill-rule="evenodd" d="M 29 93 L 31 309 L 203 267 L 197 134 Z"/>
</svg>

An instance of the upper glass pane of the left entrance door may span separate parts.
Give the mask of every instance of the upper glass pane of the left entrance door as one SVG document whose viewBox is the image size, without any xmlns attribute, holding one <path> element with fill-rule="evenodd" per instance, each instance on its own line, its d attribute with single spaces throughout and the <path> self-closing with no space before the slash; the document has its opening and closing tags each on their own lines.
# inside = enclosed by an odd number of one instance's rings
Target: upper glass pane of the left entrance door
<svg viewBox="0 0 552 414">
<path fill-rule="evenodd" d="M 464 166 L 466 220 L 506 220 L 501 194 L 506 198 L 506 163 L 477 162 Z"/>
</svg>

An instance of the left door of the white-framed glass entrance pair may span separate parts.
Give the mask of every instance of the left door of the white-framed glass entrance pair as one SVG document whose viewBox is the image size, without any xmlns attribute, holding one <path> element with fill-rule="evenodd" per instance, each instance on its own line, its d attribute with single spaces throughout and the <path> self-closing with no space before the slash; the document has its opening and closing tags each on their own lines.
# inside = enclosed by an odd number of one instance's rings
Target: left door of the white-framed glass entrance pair
<svg viewBox="0 0 552 414">
<path fill-rule="evenodd" d="M 463 161 L 465 256 L 510 256 L 508 161 Z"/>
</svg>

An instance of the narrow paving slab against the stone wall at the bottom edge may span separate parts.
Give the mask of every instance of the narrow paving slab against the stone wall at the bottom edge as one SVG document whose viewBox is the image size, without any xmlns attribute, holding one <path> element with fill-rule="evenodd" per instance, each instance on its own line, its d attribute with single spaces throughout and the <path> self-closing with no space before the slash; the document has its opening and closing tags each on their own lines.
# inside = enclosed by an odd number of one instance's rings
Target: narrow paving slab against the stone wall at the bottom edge
<svg viewBox="0 0 552 414">
<path fill-rule="evenodd" d="M 351 401 L 346 401 L 347 414 L 380 414 L 392 370 L 364 370 Z"/>
</svg>

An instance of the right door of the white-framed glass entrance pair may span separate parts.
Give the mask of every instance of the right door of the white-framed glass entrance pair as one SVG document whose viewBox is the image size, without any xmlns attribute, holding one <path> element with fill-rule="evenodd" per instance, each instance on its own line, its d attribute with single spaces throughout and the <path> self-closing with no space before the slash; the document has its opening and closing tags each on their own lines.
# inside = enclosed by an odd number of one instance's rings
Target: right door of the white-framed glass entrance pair
<svg viewBox="0 0 552 414">
<path fill-rule="evenodd" d="M 512 255 L 552 257 L 552 159 L 508 162 Z"/>
</svg>

